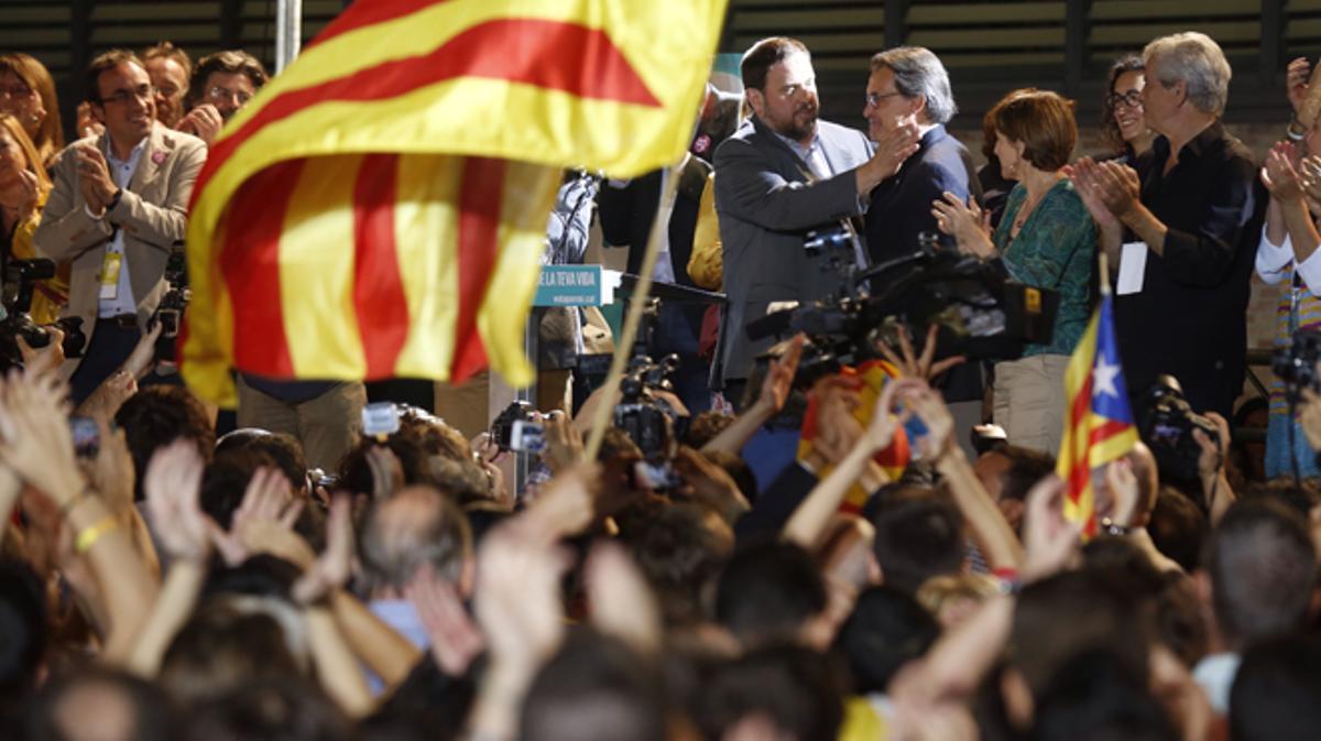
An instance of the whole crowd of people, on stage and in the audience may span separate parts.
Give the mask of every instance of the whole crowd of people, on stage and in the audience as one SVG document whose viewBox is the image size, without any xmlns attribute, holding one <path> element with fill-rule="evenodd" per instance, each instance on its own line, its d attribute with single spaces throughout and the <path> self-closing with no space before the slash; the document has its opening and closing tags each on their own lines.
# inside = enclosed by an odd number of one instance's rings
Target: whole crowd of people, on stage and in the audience
<svg viewBox="0 0 1321 741">
<path fill-rule="evenodd" d="M 727 304 L 662 301 L 646 346 L 687 365 L 633 388 L 641 404 L 565 399 L 573 363 L 556 366 L 561 408 L 520 421 L 543 445 L 511 452 L 410 406 L 363 433 L 361 383 L 250 374 L 219 428 L 162 372 L 153 316 L 260 62 L 100 54 L 63 145 L 49 73 L 0 55 L 7 269 L 50 260 L 28 310 L 89 338 L 66 358 L 58 329 L 20 337 L 0 378 L 0 734 L 1310 738 L 1321 395 L 1281 380 L 1264 452 L 1227 421 L 1252 271 L 1288 281 L 1281 345 L 1321 325 L 1309 65 L 1289 66 L 1295 120 L 1260 164 L 1221 124 L 1221 49 L 1181 33 L 1111 69 L 1112 156 L 1074 160 L 1073 103 L 1024 88 L 983 118 L 980 172 L 934 53 L 865 71 L 863 132 L 818 120 L 802 42 L 762 40 L 741 98 L 708 90 L 683 164 L 567 174 L 547 263 L 583 260 L 598 217 L 635 265 L 662 218 L 658 280 Z M 823 371 L 812 338 L 744 332 L 838 295 L 823 263 L 913 269 L 919 243 L 1058 295 L 1050 337 L 991 365 L 941 355 L 933 326 Z M 1102 284 L 1135 404 L 1168 375 L 1205 419 L 1184 468 L 1153 440 L 1094 469 L 1085 538 L 1053 472 Z M 560 362 L 593 328 L 557 321 Z M 588 454 L 602 407 L 616 424 Z M 535 476 L 506 479 L 509 456 Z"/>
</svg>

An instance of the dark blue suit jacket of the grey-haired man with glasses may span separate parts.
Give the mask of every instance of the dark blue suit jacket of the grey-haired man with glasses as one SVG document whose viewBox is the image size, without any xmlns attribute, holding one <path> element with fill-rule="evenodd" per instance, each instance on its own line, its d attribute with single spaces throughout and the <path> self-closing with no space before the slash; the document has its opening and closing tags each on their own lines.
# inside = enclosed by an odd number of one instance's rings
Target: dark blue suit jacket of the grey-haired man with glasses
<svg viewBox="0 0 1321 741">
<path fill-rule="evenodd" d="M 941 234 L 931 215 L 931 201 L 946 190 L 964 201 L 968 193 L 982 201 L 982 185 L 967 147 L 937 125 L 922 136 L 921 148 L 898 174 L 872 190 L 867 250 L 873 265 L 915 251 L 917 236 L 923 231 L 935 234 L 942 246 L 954 247 L 954 238 Z"/>
</svg>

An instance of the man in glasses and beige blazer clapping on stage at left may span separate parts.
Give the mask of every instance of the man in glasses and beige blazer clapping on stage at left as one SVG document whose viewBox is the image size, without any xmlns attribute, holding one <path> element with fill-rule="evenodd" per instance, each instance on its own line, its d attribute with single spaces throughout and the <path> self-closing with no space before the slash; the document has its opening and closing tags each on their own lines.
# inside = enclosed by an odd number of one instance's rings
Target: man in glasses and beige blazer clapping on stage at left
<svg viewBox="0 0 1321 741">
<path fill-rule="evenodd" d="M 34 235 L 41 254 L 73 262 L 63 316 L 82 317 L 89 339 L 85 357 L 63 369 L 74 403 L 110 376 L 145 332 L 206 161 L 199 139 L 156 123 L 151 78 L 132 52 L 92 59 L 87 90 L 106 132 L 59 153 Z"/>
</svg>

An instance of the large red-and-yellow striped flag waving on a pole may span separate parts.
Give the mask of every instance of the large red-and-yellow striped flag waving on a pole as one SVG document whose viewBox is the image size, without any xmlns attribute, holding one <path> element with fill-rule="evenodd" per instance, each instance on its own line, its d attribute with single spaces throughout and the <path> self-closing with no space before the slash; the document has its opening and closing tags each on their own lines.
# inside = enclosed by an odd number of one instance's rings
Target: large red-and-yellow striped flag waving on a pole
<svg viewBox="0 0 1321 741">
<path fill-rule="evenodd" d="M 564 166 L 633 177 L 692 133 L 727 0 L 362 0 L 213 143 L 181 371 L 532 379 Z"/>
</svg>

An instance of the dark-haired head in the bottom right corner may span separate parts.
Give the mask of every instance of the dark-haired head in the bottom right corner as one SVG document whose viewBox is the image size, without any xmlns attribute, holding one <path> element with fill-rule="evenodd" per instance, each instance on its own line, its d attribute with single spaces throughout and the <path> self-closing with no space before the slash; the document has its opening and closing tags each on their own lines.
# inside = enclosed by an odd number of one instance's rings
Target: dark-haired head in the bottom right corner
<svg viewBox="0 0 1321 741">
<path fill-rule="evenodd" d="M 1321 638 L 1271 638 L 1243 654 L 1230 691 L 1232 741 L 1304 741 L 1321 728 Z"/>
</svg>

